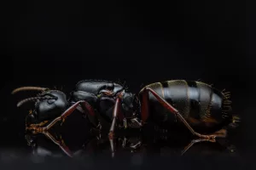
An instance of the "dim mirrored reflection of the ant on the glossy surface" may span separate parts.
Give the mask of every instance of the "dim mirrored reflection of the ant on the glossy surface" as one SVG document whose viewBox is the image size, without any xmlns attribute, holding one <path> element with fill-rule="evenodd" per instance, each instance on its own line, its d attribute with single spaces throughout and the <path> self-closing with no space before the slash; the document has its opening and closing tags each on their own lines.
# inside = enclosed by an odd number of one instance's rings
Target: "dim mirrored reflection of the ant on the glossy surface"
<svg viewBox="0 0 256 170">
<path fill-rule="evenodd" d="M 112 156 L 119 153 L 139 154 L 236 154 L 236 148 L 226 139 L 219 139 L 217 143 L 204 142 L 201 139 L 189 138 L 180 132 L 170 129 L 160 129 L 155 126 L 147 126 L 140 131 L 117 131 L 116 138 L 109 140 L 108 135 L 98 128 L 90 127 L 84 132 L 67 134 L 60 126 L 52 131 L 43 133 L 26 133 L 26 141 L 32 147 L 33 154 L 37 156 L 63 156 L 60 150 L 67 156 L 90 156 L 107 151 Z M 148 133 L 149 132 L 149 133 Z M 65 134 L 65 135 L 64 135 Z M 183 135 L 180 135 L 183 134 Z M 64 138 L 62 137 L 65 136 Z M 59 147 L 59 149 L 58 149 Z M 112 152 L 112 150 L 114 150 Z M 182 150 L 182 151 L 181 151 Z"/>
</svg>

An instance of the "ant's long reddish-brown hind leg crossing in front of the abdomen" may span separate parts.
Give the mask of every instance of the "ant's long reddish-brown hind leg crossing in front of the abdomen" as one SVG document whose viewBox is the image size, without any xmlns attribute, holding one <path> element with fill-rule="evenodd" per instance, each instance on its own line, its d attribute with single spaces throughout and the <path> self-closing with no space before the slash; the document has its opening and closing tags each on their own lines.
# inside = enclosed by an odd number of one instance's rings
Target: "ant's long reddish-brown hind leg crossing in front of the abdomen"
<svg viewBox="0 0 256 170">
<path fill-rule="evenodd" d="M 183 116 L 175 109 L 172 105 L 170 105 L 165 99 L 163 99 L 159 94 L 157 94 L 152 88 L 144 88 L 143 89 L 143 102 L 146 101 L 146 103 L 143 103 L 145 105 L 142 109 L 142 115 L 144 114 L 144 117 L 148 116 L 148 92 L 154 95 L 156 99 L 160 102 L 161 105 L 163 105 L 168 111 L 171 111 L 173 114 L 175 114 L 183 124 L 189 128 L 189 131 L 194 134 L 195 136 L 201 138 L 201 139 L 207 139 L 208 141 L 215 142 L 215 138 L 219 137 L 218 133 L 213 133 L 209 135 L 204 135 L 201 133 L 196 133 L 195 130 L 189 125 L 189 123 L 183 118 Z M 144 118 L 145 119 L 145 118 Z M 223 135 L 221 135 L 222 137 Z"/>
</svg>

